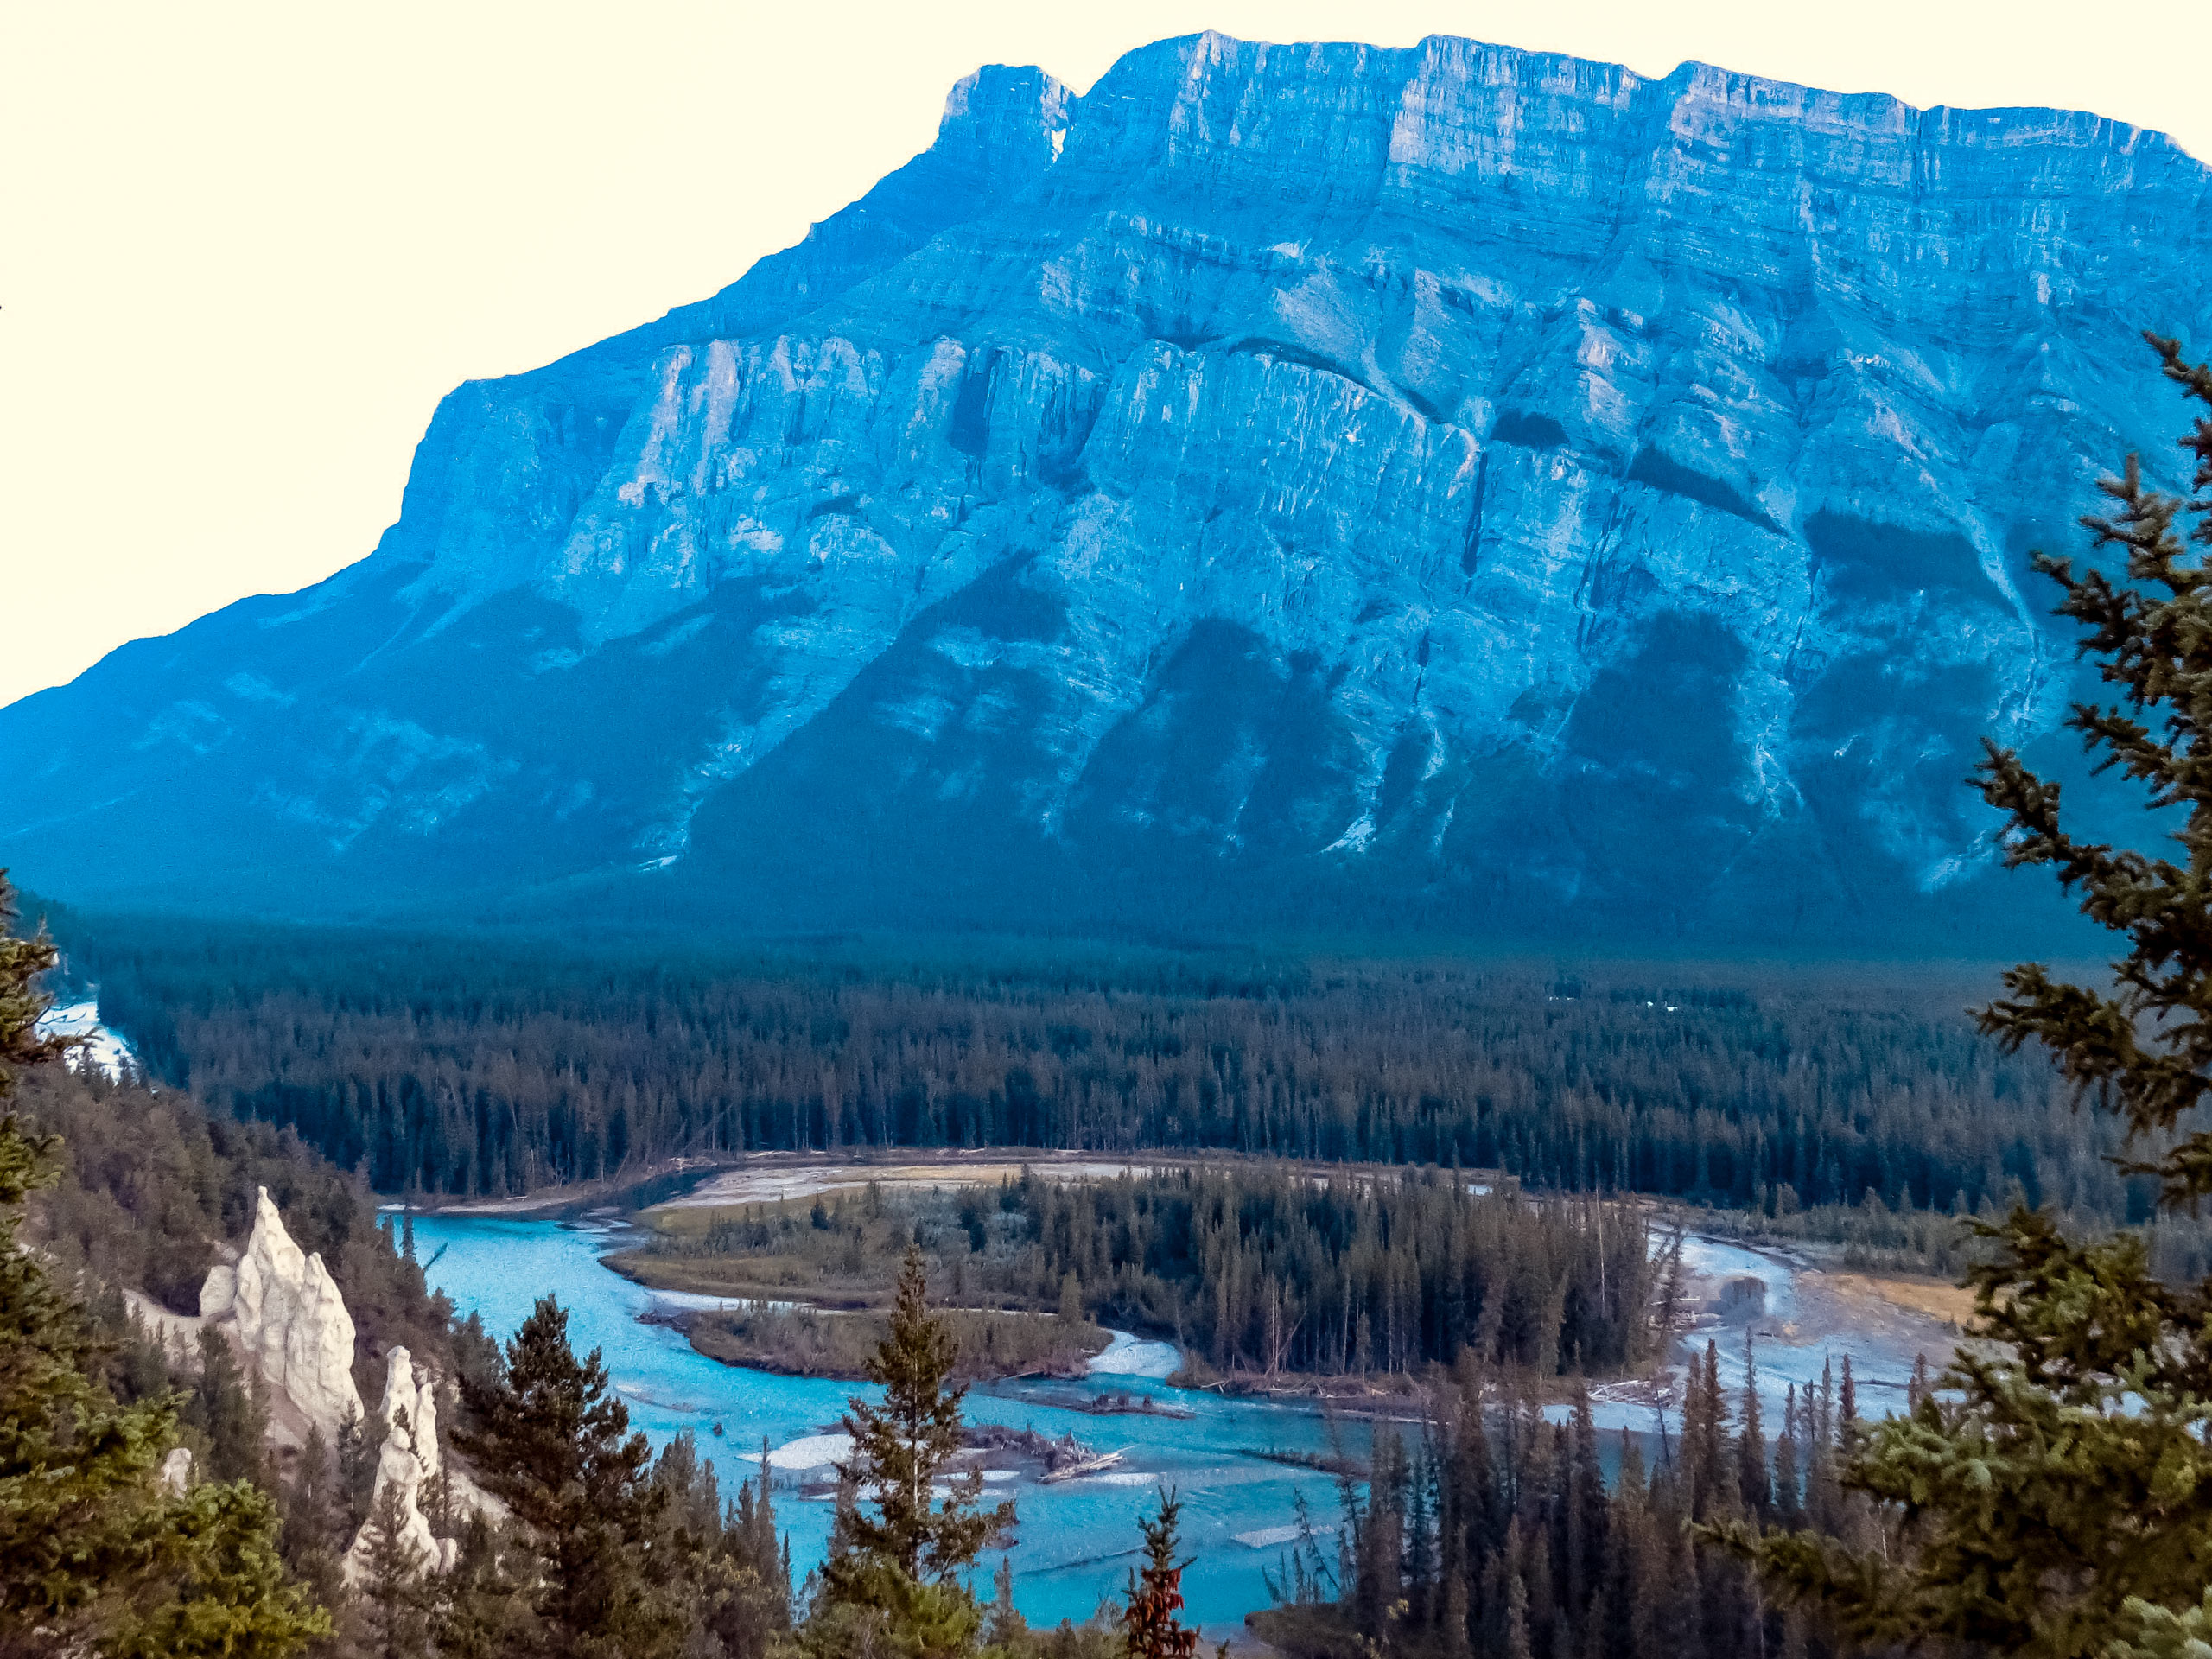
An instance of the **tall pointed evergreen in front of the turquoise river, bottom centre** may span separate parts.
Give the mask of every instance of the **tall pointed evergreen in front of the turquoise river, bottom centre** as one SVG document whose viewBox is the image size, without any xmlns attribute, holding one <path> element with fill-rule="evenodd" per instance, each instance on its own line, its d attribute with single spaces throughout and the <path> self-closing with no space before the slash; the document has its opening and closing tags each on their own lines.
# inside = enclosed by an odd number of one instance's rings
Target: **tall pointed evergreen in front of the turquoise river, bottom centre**
<svg viewBox="0 0 2212 1659">
<path fill-rule="evenodd" d="M 982 1475 L 973 1469 L 940 1480 L 962 1444 L 967 1389 L 949 1385 L 953 1358 L 951 1332 L 929 1316 L 922 1252 L 909 1245 L 889 1334 L 869 1360 L 883 1402 L 847 1402 L 852 1458 L 838 1464 L 836 1528 L 805 1632 L 816 1652 L 845 1652 L 869 1637 L 931 1657 L 975 1644 L 982 1615 L 960 1575 L 1013 1526 L 1013 1504 L 980 1511 Z M 947 1486 L 942 1504 L 931 1504 L 936 1484 Z"/>
</svg>

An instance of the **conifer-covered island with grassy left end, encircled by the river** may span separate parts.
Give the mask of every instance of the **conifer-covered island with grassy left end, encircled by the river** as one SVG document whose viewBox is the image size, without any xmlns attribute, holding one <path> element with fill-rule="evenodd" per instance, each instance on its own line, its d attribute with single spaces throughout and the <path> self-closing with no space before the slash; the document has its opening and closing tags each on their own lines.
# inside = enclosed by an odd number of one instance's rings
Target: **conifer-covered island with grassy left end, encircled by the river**
<svg viewBox="0 0 2212 1659">
<path fill-rule="evenodd" d="M 805 1285 L 865 1305 L 883 1301 L 911 1243 L 956 1307 L 1166 1336 L 1208 1380 L 1413 1376 L 1460 1354 L 1544 1378 L 1617 1371 L 1655 1352 L 1666 1318 L 1635 1210 L 1478 1194 L 1438 1170 L 1316 1181 L 1256 1164 L 1071 1183 L 1029 1172 L 998 1188 L 869 1186 L 812 1206 L 659 1217 L 615 1267 L 675 1290 L 772 1298 Z M 739 1323 L 743 1352 L 807 1336 L 787 1318 Z M 721 1343 L 695 1332 L 703 1352 L 739 1354 L 730 1321 L 703 1325 Z M 779 1369 L 805 1369 L 803 1358 Z"/>
</svg>

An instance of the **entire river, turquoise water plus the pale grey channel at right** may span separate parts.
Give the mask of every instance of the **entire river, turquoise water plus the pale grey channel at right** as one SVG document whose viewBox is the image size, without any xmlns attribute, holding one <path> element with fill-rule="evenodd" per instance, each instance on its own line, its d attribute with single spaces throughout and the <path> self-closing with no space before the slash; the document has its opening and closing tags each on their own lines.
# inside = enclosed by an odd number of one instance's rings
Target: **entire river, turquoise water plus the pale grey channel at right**
<svg viewBox="0 0 2212 1659">
<path fill-rule="evenodd" d="M 529 1314 L 531 1303 L 553 1292 L 568 1310 L 568 1336 L 577 1352 L 597 1347 L 608 1376 L 630 1407 L 630 1420 L 655 1444 L 692 1429 L 701 1451 L 714 1458 L 723 1493 L 757 1467 L 761 1438 L 781 1455 L 776 1467 L 776 1515 L 792 1535 L 792 1562 L 805 1573 L 823 1555 L 830 1535 L 830 1502 L 803 1498 L 801 1480 L 821 1484 L 834 1447 L 845 1398 L 860 1385 L 748 1371 L 692 1352 L 681 1332 L 639 1323 L 655 1303 L 697 1305 L 697 1296 L 650 1292 L 611 1272 L 599 1256 L 628 1234 L 617 1228 L 538 1219 L 418 1217 L 416 1245 L 429 1265 L 429 1281 L 484 1325 L 507 1336 Z M 1849 1274 L 1823 1274 L 1774 1252 L 1754 1252 L 1717 1239 L 1690 1239 L 1683 1248 L 1697 1294 L 1710 1294 L 1728 1279 L 1756 1276 L 1765 1285 L 1761 1316 L 1747 1325 L 1705 1321 L 1690 1334 L 1686 1352 L 1719 1345 L 1721 1380 L 1734 1398 L 1743 1383 L 1747 1334 L 1756 1334 L 1761 1394 L 1770 1431 L 1778 1427 L 1783 1394 L 1818 1380 L 1827 1365 L 1849 1354 L 1858 1367 L 1867 1411 L 1882 1413 L 1902 1402 L 1913 1356 L 1924 1352 L 1936 1365 L 1949 1358 L 1955 1334 L 1938 1318 L 1865 1294 L 1838 1296 L 1836 1287 L 1863 1285 Z M 1710 1329 L 1708 1329 L 1710 1327 Z M 975 1422 L 1035 1427 L 1048 1436 L 1073 1431 L 1099 1451 L 1121 1451 L 1121 1467 L 1051 1486 L 1033 1480 L 1033 1469 L 1000 1473 L 987 1500 L 1013 1498 L 1020 1511 L 1013 1555 L 1015 1604 L 1031 1624 L 1088 1617 L 1102 1597 L 1117 1595 L 1137 1559 L 1137 1515 L 1152 1509 L 1155 1493 L 1172 1486 L 1183 1498 L 1183 1551 L 1194 1557 L 1183 1575 L 1190 1617 L 1217 1632 L 1239 1624 L 1252 1608 L 1267 1606 L 1263 1571 L 1281 1564 L 1281 1544 L 1252 1535 L 1283 1533 L 1294 1520 L 1296 1493 L 1305 1493 L 1316 1528 L 1338 1522 L 1336 1482 L 1305 1469 L 1243 1455 L 1248 1451 L 1332 1449 L 1329 1422 L 1312 1407 L 1265 1400 L 1223 1400 L 1214 1394 L 1170 1389 L 1159 1376 L 1170 1369 L 1172 1349 L 1126 1336 L 1104 1356 L 1117 1374 L 1093 1378 L 1091 1389 L 1148 1394 L 1190 1418 L 1091 1416 L 1053 1407 L 1048 1396 L 1066 1396 L 1082 1385 L 1006 1383 L 969 1394 L 967 1413 Z M 1150 1371 L 1150 1376 L 1146 1376 Z M 1564 1420 L 1564 1407 L 1551 1407 Z M 1628 1429 L 1646 1438 L 1652 1407 L 1632 1400 L 1599 1400 L 1599 1429 Z M 721 1436 L 714 1433 L 717 1425 Z M 1343 1451 L 1365 1460 L 1369 1429 L 1363 1420 L 1340 1422 Z M 1659 1447 L 1648 1447 L 1648 1455 Z M 1606 1469 L 1617 1460 L 1608 1433 Z M 1015 1469 L 1013 1460 L 998 1460 Z M 1243 1535 L 1243 1537 L 1241 1537 Z M 1329 1562 L 1334 1533 L 1323 1537 Z M 984 1562 L 995 1568 L 998 1559 Z"/>
</svg>

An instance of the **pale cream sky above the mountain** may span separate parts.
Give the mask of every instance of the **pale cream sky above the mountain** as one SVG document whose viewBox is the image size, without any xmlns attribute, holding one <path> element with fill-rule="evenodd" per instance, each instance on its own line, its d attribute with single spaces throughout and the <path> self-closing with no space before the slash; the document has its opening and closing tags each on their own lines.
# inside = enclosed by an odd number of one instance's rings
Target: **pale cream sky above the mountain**
<svg viewBox="0 0 2212 1659">
<path fill-rule="evenodd" d="M 0 0 L 0 703 L 365 555 L 431 407 L 734 281 L 982 62 L 1475 35 L 2212 157 L 2212 7 L 1953 0 Z"/>
</svg>

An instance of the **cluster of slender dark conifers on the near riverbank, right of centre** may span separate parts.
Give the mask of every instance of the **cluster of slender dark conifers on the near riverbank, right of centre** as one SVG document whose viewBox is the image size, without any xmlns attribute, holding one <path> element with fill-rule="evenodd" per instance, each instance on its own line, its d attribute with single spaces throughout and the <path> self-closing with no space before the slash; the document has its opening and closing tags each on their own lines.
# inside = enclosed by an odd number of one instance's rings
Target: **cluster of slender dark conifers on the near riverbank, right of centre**
<svg viewBox="0 0 2212 1659">
<path fill-rule="evenodd" d="M 1714 1358 L 1708 1347 L 1688 1367 L 1668 1433 L 1619 1436 L 1608 1478 L 1586 1396 L 1566 1422 L 1546 1420 L 1469 1356 L 1429 1396 L 1418 1431 L 1376 1436 L 1367 1489 L 1340 1486 L 1334 1548 L 1318 1542 L 1325 1522 L 1310 1524 L 1274 1575 L 1279 1606 L 1252 1624 L 1292 1659 L 1867 1652 L 1774 1597 L 1708 1531 L 1743 1524 L 1902 1548 L 1898 1513 L 1847 1478 L 1865 1433 L 1849 1369 L 1792 1389 L 1770 1433 L 1756 1389 L 1730 1400 Z"/>
</svg>

